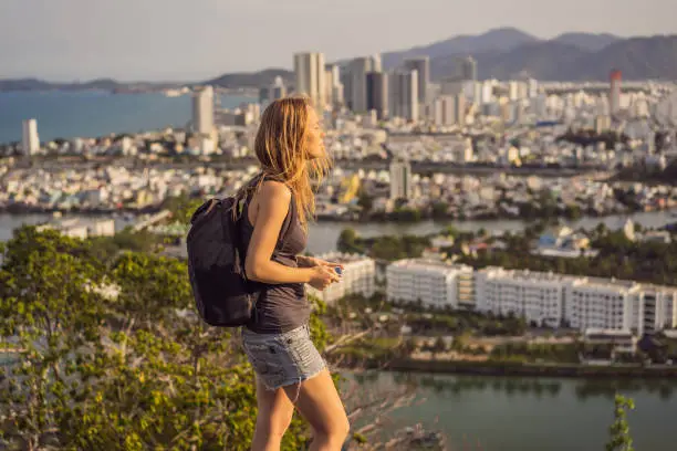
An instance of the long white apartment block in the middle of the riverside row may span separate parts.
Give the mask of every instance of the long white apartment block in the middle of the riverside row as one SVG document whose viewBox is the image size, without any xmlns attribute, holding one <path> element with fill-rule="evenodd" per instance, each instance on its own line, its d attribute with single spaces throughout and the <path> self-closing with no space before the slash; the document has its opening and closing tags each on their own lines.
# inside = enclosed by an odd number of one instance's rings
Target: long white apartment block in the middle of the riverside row
<svg viewBox="0 0 677 451">
<path fill-rule="evenodd" d="M 480 312 L 522 316 L 528 322 L 559 327 L 564 314 L 564 287 L 575 279 L 559 274 L 487 268 L 476 276 Z"/>
</svg>

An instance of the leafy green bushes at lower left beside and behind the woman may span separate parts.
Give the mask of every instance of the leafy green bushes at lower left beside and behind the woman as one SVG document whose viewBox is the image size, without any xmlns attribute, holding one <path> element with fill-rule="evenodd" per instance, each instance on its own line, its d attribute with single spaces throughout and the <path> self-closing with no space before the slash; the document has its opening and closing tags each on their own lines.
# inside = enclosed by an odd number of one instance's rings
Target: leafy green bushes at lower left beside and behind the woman
<svg viewBox="0 0 677 451">
<path fill-rule="evenodd" d="M 0 448 L 248 450 L 253 371 L 228 329 L 190 308 L 184 262 L 20 229 L 0 247 Z M 317 313 L 313 338 L 331 339 Z M 294 418 L 283 450 L 308 444 Z"/>
</svg>

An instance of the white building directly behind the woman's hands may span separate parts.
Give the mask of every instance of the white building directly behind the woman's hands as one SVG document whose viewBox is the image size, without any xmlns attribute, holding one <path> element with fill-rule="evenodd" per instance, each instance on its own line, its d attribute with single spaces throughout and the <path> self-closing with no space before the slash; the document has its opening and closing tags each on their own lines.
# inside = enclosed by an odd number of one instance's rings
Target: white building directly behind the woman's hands
<svg viewBox="0 0 677 451">
<path fill-rule="evenodd" d="M 322 292 L 308 286 L 309 294 L 321 298 L 326 304 L 333 304 L 350 294 L 361 294 L 365 297 L 374 294 L 376 263 L 373 259 L 341 252 L 331 252 L 317 255 L 317 258 L 327 262 L 343 264 L 343 274 L 341 282 L 331 284 Z"/>
</svg>

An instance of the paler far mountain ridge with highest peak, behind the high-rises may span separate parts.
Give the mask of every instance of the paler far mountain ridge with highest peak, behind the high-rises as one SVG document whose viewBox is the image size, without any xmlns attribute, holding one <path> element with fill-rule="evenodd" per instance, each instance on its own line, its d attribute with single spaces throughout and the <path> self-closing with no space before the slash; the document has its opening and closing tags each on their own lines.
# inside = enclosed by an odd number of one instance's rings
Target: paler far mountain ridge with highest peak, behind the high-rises
<svg viewBox="0 0 677 451">
<path fill-rule="evenodd" d="M 385 69 L 399 65 L 405 59 L 412 56 L 447 56 L 451 54 L 476 54 L 489 51 L 510 51 L 522 44 L 538 42 L 539 39 L 514 28 L 490 30 L 477 35 L 457 35 L 445 41 L 434 42 L 424 46 L 416 46 L 404 51 L 382 54 Z"/>
</svg>

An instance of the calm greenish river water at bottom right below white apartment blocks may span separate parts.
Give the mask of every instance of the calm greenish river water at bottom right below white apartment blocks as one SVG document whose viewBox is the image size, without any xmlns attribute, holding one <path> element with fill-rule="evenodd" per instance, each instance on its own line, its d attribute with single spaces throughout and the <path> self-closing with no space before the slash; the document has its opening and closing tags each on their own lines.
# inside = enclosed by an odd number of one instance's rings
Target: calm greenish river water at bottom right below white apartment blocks
<svg viewBox="0 0 677 451">
<path fill-rule="evenodd" d="M 676 381 L 397 373 L 358 375 L 357 380 L 361 399 L 416 387 L 416 400 L 389 415 L 395 424 L 420 422 L 444 432 L 451 450 L 483 451 L 604 450 L 613 421 L 614 385 L 618 385 L 619 392 L 635 401 L 628 413 L 635 449 L 676 448 Z"/>
</svg>

